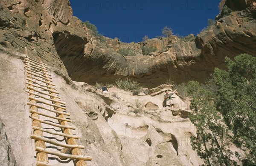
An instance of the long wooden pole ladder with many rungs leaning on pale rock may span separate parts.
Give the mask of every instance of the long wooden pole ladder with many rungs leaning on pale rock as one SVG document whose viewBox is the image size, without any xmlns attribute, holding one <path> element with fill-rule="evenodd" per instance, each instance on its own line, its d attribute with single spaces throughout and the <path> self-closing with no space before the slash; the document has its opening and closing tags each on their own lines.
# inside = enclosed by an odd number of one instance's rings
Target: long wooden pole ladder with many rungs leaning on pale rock
<svg viewBox="0 0 256 166">
<path fill-rule="evenodd" d="M 66 118 L 70 116 L 65 111 L 66 103 L 61 101 L 47 65 L 28 56 L 23 62 L 27 72 L 27 105 L 30 107 L 32 118 L 31 138 L 35 140 L 37 151 L 36 166 L 53 166 L 54 164 L 49 163 L 48 155 L 58 156 L 60 159 L 51 158 L 57 159 L 60 163 L 69 159 L 73 160 L 76 166 L 86 166 L 85 161 L 92 160 L 92 157 L 82 155 L 81 149 L 84 149 L 84 146 L 76 142 L 79 137 L 72 133 L 76 127 L 69 125 L 72 121 Z M 46 143 L 49 146 L 46 146 Z"/>
</svg>

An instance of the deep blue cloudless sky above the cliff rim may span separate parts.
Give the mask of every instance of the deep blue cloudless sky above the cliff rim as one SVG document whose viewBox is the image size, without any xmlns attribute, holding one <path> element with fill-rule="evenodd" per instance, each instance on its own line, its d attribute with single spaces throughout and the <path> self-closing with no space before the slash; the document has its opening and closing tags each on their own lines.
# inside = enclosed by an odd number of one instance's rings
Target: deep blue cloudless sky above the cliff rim
<svg viewBox="0 0 256 166">
<path fill-rule="evenodd" d="M 70 0 L 73 15 L 93 23 L 99 34 L 130 43 L 162 35 L 199 33 L 214 20 L 220 0 Z"/>
</svg>

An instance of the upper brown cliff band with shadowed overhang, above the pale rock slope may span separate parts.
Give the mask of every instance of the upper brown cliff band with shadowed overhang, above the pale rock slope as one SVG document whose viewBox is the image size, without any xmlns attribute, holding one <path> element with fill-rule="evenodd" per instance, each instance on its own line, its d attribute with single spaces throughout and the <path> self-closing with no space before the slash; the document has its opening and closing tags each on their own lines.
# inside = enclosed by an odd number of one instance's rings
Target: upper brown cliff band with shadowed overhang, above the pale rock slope
<svg viewBox="0 0 256 166">
<path fill-rule="evenodd" d="M 255 55 L 255 1 L 227 0 L 226 5 L 239 11 L 222 11 L 216 23 L 197 37 L 122 43 L 118 39 L 99 40 L 81 20 L 72 17 L 68 0 L 5 0 L 1 1 L 0 44 L 17 52 L 26 46 L 31 56 L 68 73 L 72 80 L 89 84 L 113 83 L 122 77 L 149 88 L 168 78 L 204 81 L 215 67 L 225 68 L 225 56 Z M 143 56 L 143 47 L 150 46 L 157 51 Z M 120 48 L 131 48 L 137 56 L 118 54 Z"/>
</svg>

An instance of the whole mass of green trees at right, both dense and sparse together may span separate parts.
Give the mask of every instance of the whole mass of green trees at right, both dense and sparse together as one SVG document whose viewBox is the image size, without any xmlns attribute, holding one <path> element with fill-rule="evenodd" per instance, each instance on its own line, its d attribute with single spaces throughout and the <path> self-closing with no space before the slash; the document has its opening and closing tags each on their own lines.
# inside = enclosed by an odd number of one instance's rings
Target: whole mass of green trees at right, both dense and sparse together
<svg viewBox="0 0 256 166">
<path fill-rule="evenodd" d="M 190 120 L 197 128 L 192 147 L 207 165 L 237 165 L 235 158 L 255 165 L 256 57 L 240 54 L 234 62 L 226 57 L 226 63 L 227 71 L 216 68 L 205 85 L 188 84 Z M 247 154 L 233 154 L 230 142 Z"/>
</svg>

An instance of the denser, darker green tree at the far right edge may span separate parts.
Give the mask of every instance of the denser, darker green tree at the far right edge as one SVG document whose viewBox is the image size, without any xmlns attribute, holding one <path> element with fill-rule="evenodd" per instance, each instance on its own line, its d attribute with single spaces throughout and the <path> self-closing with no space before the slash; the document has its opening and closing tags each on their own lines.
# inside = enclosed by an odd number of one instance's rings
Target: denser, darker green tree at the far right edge
<svg viewBox="0 0 256 166">
<path fill-rule="evenodd" d="M 240 54 L 234 62 L 226 57 L 227 71 L 215 69 L 218 87 L 216 107 L 233 132 L 233 142 L 249 154 L 244 165 L 256 164 L 256 57 Z"/>
</svg>

